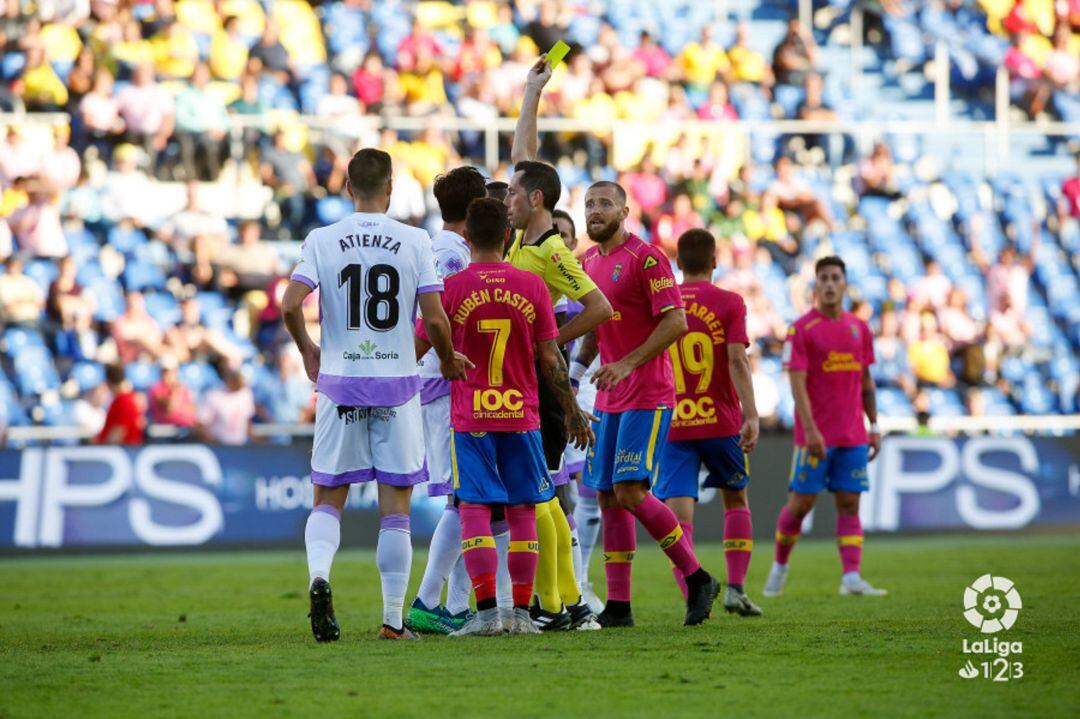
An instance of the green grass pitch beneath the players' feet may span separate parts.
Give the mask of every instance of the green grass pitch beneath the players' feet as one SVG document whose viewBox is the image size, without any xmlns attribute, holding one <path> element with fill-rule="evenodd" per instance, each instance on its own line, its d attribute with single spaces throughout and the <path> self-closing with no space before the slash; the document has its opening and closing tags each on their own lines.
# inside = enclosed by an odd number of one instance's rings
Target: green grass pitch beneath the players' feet
<svg viewBox="0 0 1080 719">
<path fill-rule="evenodd" d="M 345 551 L 335 645 L 311 638 L 299 551 L 4 559 L 0 717 L 1080 716 L 1080 535 L 872 537 L 880 599 L 837 596 L 835 546 L 813 541 L 787 594 L 764 599 L 771 547 L 757 548 L 760 620 L 683 627 L 667 561 L 643 542 L 633 629 L 421 642 L 375 641 L 374 555 Z M 699 554 L 724 575 L 719 546 Z M 963 588 L 985 572 L 1023 597 L 996 635 L 1024 642 L 1020 680 L 958 676 L 961 641 L 983 638 Z"/>
</svg>

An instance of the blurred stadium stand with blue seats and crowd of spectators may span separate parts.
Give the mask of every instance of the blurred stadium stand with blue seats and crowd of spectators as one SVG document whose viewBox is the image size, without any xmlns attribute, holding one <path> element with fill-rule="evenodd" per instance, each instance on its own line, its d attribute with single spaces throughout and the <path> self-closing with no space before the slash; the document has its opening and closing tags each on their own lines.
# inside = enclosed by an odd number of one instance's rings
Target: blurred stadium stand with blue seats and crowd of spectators
<svg viewBox="0 0 1080 719">
<path fill-rule="evenodd" d="M 483 165 L 492 138 L 505 162 L 509 135 L 483 126 L 516 112 L 529 64 L 558 38 L 576 52 L 542 113 L 577 124 L 545 132 L 541 154 L 563 204 L 582 227 L 584 187 L 617 178 L 631 227 L 669 255 L 689 227 L 724 239 L 716 280 L 746 297 L 774 422 L 793 421 L 786 323 L 826 252 L 847 260 L 878 333 L 883 413 L 1080 411 L 1075 2 L 36 4 L 0 2 L 12 426 L 93 433 L 117 360 L 140 392 L 175 364 L 197 399 L 224 363 L 242 369 L 258 421 L 309 417 L 278 304 L 298 240 L 351 212 L 351 151 L 389 149 L 391 214 L 437 228 L 431 181 Z M 973 141 L 888 124 L 942 120 L 943 62 L 949 122 L 1001 120 L 1004 82 L 1011 122 L 1065 131 Z M 316 299 L 310 318 L 314 333 Z"/>
</svg>

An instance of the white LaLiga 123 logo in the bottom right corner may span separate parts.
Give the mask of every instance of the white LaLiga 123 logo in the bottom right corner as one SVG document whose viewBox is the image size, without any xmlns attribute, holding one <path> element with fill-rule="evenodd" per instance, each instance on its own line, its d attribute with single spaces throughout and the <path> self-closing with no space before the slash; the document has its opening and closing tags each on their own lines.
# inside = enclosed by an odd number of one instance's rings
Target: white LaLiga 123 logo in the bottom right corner
<svg viewBox="0 0 1080 719">
<path fill-rule="evenodd" d="M 1004 576 L 983 574 L 963 591 L 963 618 L 985 638 L 964 639 L 964 654 L 993 656 L 972 662 L 968 659 L 960 667 L 963 679 L 1015 681 L 1024 676 L 1024 663 L 1015 659 L 1024 653 L 1024 642 L 1000 639 L 997 635 L 1012 628 L 1024 607 L 1013 581 Z"/>
</svg>

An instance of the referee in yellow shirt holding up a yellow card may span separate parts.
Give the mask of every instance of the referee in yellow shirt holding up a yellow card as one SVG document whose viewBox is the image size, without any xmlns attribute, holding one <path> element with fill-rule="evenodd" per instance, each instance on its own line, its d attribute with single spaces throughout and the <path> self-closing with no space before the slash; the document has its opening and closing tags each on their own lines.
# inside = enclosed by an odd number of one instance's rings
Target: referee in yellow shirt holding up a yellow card
<svg viewBox="0 0 1080 719">
<path fill-rule="evenodd" d="M 517 231 L 507 253 L 508 261 L 543 279 L 552 304 L 566 296 L 582 304 L 582 311 L 558 330 L 558 345 L 566 347 L 611 316 L 611 306 L 581 269 L 573 254 L 554 228 L 552 213 L 558 203 L 562 185 L 555 168 L 535 160 L 537 152 L 537 111 L 540 94 L 551 78 L 544 57 L 529 70 L 522 100 L 522 111 L 514 130 L 511 161 L 514 174 L 507 189 L 505 203 L 510 223 Z M 556 500 L 537 507 L 540 535 L 540 565 L 536 591 L 539 599 L 534 618 L 545 630 L 599 628 L 592 610 L 581 600 L 581 589 L 573 567 L 572 530 L 566 517 L 569 475 L 563 463 L 567 437 L 563 431 L 562 408 L 553 391 L 540 377 L 540 431 L 543 435 L 548 469 L 556 483 Z M 567 502 L 564 506 L 563 502 Z"/>
</svg>

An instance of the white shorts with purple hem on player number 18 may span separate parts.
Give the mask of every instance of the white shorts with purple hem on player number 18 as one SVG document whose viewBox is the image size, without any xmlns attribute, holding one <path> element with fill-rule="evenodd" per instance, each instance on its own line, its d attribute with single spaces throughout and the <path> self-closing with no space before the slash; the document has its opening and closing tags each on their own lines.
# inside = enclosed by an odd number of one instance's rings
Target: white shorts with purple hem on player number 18
<svg viewBox="0 0 1080 719">
<path fill-rule="evenodd" d="M 311 481 L 411 487 L 428 480 L 419 394 L 396 407 L 338 407 L 316 396 Z"/>
</svg>

